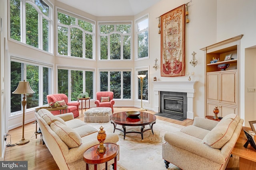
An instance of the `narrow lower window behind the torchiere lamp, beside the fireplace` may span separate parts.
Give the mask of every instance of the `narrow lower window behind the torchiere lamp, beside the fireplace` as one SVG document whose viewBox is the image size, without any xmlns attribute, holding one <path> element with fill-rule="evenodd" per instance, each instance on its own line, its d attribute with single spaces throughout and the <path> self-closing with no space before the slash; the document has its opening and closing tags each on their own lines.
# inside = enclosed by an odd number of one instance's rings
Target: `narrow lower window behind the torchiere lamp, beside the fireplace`
<svg viewBox="0 0 256 170">
<path fill-rule="evenodd" d="M 137 75 L 146 75 L 145 78 L 143 78 L 143 86 L 142 86 L 142 100 L 148 100 L 148 70 L 142 69 L 137 70 Z M 140 93 L 140 79 L 136 76 L 138 79 L 138 97 L 137 99 L 141 100 L 141 93 Z"/>
</svg>

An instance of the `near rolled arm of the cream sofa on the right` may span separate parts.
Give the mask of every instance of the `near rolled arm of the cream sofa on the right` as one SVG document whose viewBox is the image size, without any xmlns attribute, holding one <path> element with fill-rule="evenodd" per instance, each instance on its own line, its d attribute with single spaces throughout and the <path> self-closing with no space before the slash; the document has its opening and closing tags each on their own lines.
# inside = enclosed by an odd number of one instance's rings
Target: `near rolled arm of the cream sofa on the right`
<svg viewBox="0 0 256 170">
<path fill-rule="evenodd" d="M 199 141 L 192 140 L 187 137 L 183 137 L 178 133 L 166 133 L 164 140 L 175 147 L 187 150 L 219 164 L 223 164 L 227 156 L 221 153 L 220 149 L 211 148 Z M 164 145 L 164 144 L 163 144 Z"/>
</svg>

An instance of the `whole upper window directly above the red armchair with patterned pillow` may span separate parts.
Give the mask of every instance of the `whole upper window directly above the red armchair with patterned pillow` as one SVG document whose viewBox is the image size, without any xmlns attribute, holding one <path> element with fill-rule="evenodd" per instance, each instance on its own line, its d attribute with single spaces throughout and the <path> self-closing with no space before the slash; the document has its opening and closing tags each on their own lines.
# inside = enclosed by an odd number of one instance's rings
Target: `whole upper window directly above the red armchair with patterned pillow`
<svg viewBox="0 0 256 170">
<path fill-rule="evenodd" d="M 131 35 L 131 22 L 99 23 L 100 60 L 130 60 Z"/>
</svg>

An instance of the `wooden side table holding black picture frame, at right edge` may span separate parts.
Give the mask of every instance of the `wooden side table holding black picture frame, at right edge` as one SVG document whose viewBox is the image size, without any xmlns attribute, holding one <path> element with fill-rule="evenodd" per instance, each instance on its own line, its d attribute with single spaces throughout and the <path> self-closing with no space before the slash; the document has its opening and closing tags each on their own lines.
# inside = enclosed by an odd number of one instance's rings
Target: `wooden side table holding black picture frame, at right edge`
<svg viewBox="0 0 256 170">
<path fill-rule="evenodd" d="M 250 127 L 242 127 L 231 154 L 239 156 L 239 170 L 253 170 L 256 167 L 256 150 L 250 144 L 247 148 L 244 147 L 247 141 L 244 130 L 251 131 L 252 129 Z"/>
</svg>

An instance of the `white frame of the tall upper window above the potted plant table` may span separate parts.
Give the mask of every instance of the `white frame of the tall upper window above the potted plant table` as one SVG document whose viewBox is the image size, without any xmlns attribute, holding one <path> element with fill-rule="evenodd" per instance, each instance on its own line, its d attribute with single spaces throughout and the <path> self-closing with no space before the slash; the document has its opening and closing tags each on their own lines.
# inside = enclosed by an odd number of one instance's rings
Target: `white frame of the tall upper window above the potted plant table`
<svg viewBox="0 0 256 170">
<path fill-rule="evenodd" d="M 86 21 L 86 22 L 89 22 L 89 23 L 92 23 L 92 32 L 89 32 L 89 31 L 85 31 L 84 29 L 82 29 L 82 27 L 80 27 L 79 25 L 65 25 L 65 24 L 62 24 L 62 23 L 58 23 L 58 12 L 62 13 L 62 14 L 65 14 L 65 15 L 68 15 L 68 16 L 71 16 L 71 17 L 74 17 L 76 19 L 76 22 L 77 20 L 83 20 L 83 21 Z M 95 33 L 95 25 L 96 25 L 96 21 L 92 20 L 92 19 L 89 19 L 89 18 L 86 18 L 84 16 L 80 16 L 79 14 L 76 14 L 74 12 L 70 12 L 68 10 L 64 10 L 63 8 L 60 8 L 58 6 L 56 6 L 56 10 L 55 10 L 55 39 L 56 39 L 56 43 L 55 43 L 55 55 L 58 56 L 58 57 L 68 57 L 68 58 L 76 58 L 76 59 L 85 59 L 85 60 L 95 60 L 96 57 L 95 57 L 95 49 L 96 49 L 96 33 Z M 58 26 L 62 26 L 62 27 L 65 27 L 68 29 L 68 55 L 61 55 L 61 54 L 58 54 Z M 80 30 L 83 31 L 83 40 L 84 40 L 84 37 L 85 37 L 85 33 L 88 33 L 90 35 L 92 35 L 92 59 L 88 59 L 86 58 L 85 56 L 85 53 L 86 53 L 86 44 L 85 42 L 83 41 L 82 42 L 82 47 L 83 47 L 83 57 L 75 57 L 75 56 L 71 56 L 71 34 L 70 34 L 70 29 L 71 28 L 78 28 Z"/>
</svg>

